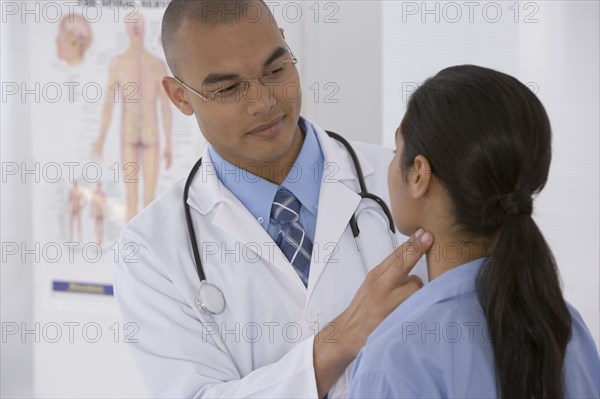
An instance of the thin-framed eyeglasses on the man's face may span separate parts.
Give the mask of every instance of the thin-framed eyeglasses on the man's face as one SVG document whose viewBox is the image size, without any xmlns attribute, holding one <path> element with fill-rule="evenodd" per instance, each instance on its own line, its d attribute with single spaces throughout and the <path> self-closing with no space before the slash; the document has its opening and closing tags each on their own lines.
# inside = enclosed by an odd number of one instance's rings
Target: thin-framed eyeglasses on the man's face
<svg viewBox="0 0 600 399">
<path fill-rule="evenodd" d="M 294 57 L 294 54 L 291 51 L 289 51 L 289 54 L 292 57 L 291 59 L 271 65 L 254 78 L 240 79 L 233 83 L 226 83 L 225 86 L 219 87 L 208 96 L 202 95 L 197 90 L 184 83 L 181 79 L 177 77 L 174 77 L 174 79 L 204 101 L 214 100 L 220 104 L 230 104 L 239 101 L 246 95 L 251 80 L 256 79 L 263 86 L 285 82 L 292 75 L 292 72 L 294 72 L 294 65 L 298 62 L 298 59 Z"/>
</svg>

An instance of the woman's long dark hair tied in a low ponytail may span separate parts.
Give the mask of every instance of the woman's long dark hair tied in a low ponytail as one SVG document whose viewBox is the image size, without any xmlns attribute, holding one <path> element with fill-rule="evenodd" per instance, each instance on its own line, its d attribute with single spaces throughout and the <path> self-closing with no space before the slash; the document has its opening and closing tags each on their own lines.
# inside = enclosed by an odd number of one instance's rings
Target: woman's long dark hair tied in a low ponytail
<svg viewBox="0 0 600 399">
<path fill-rule="evenodd" d="M 417 155 L 449 193 L 456 227 L 494 240 L 477 288 L 502 398 L 562 398 L 571 317 L 554 256 L 531 217 L 548 179 L 551 129 L 517 79 L 473 65 L 444 69 L 412 95 L 403 166 Z"/>
</svg>

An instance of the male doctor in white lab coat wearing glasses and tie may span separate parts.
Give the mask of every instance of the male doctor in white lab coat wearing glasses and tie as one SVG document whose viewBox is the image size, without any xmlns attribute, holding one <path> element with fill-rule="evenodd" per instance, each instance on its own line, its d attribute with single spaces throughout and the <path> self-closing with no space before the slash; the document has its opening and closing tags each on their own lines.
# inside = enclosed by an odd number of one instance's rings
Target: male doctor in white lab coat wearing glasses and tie
<svg viewBox="0 0 600 399">
<path fill-rule="evenodd" d="M 431 234 L 392 251 L 348 152 L 300 117 L 297 60 L 261 1 L 174 0 L 162 40 L 174 75 L 164 90 L 209 143 L 187 205 L 206 280 L 226 305 L 218 314 L 196 305 L 181 181 L 126 226 L 120 248 L 135 251 L 116 265 L 115 295 L 137 328 L 129 345 L 150 396 L 345 396 L 368 335 L 422 285 L 408 273 Z M 391 150 L 354 148 L 368 189 L 387 200 Z"/>
</svg>

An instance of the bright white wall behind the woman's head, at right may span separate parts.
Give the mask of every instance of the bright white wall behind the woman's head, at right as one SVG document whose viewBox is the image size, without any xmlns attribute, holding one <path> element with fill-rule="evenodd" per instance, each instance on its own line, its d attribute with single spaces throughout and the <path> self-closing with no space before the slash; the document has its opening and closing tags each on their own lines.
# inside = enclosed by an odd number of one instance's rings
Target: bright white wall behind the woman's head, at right
<svg viewBox="0 0 600 399">
<path fill-rule="evenodd" d="M 445 67 L 477 64 L 526 83 L 553 128 L 550 177 L 534 217 L 556 257 L 566 299 L 598 344 L 599 3 L 474 2 L 472 22 L 462 2 L 423 4 L 383 3 L 383 143 L 394 145 L 407 96 Z"/>
</svg>

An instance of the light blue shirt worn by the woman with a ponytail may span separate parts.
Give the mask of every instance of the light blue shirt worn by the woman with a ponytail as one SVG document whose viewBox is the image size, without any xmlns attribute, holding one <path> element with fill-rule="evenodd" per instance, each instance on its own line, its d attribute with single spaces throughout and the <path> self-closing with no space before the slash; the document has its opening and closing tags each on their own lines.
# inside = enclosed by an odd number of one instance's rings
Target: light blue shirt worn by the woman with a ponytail
<svg viewBox="0 0 600 399">
<path fill-rule="evenodd" d="M 409 297 L 371 334 L 350 380 L 351 398 L 496 398 L 494 354 L 477 298 L 485 258 L 451 269 Z M 600 397 L 594 340 L 569 305 L 567 398 Z"/>
</svg>

